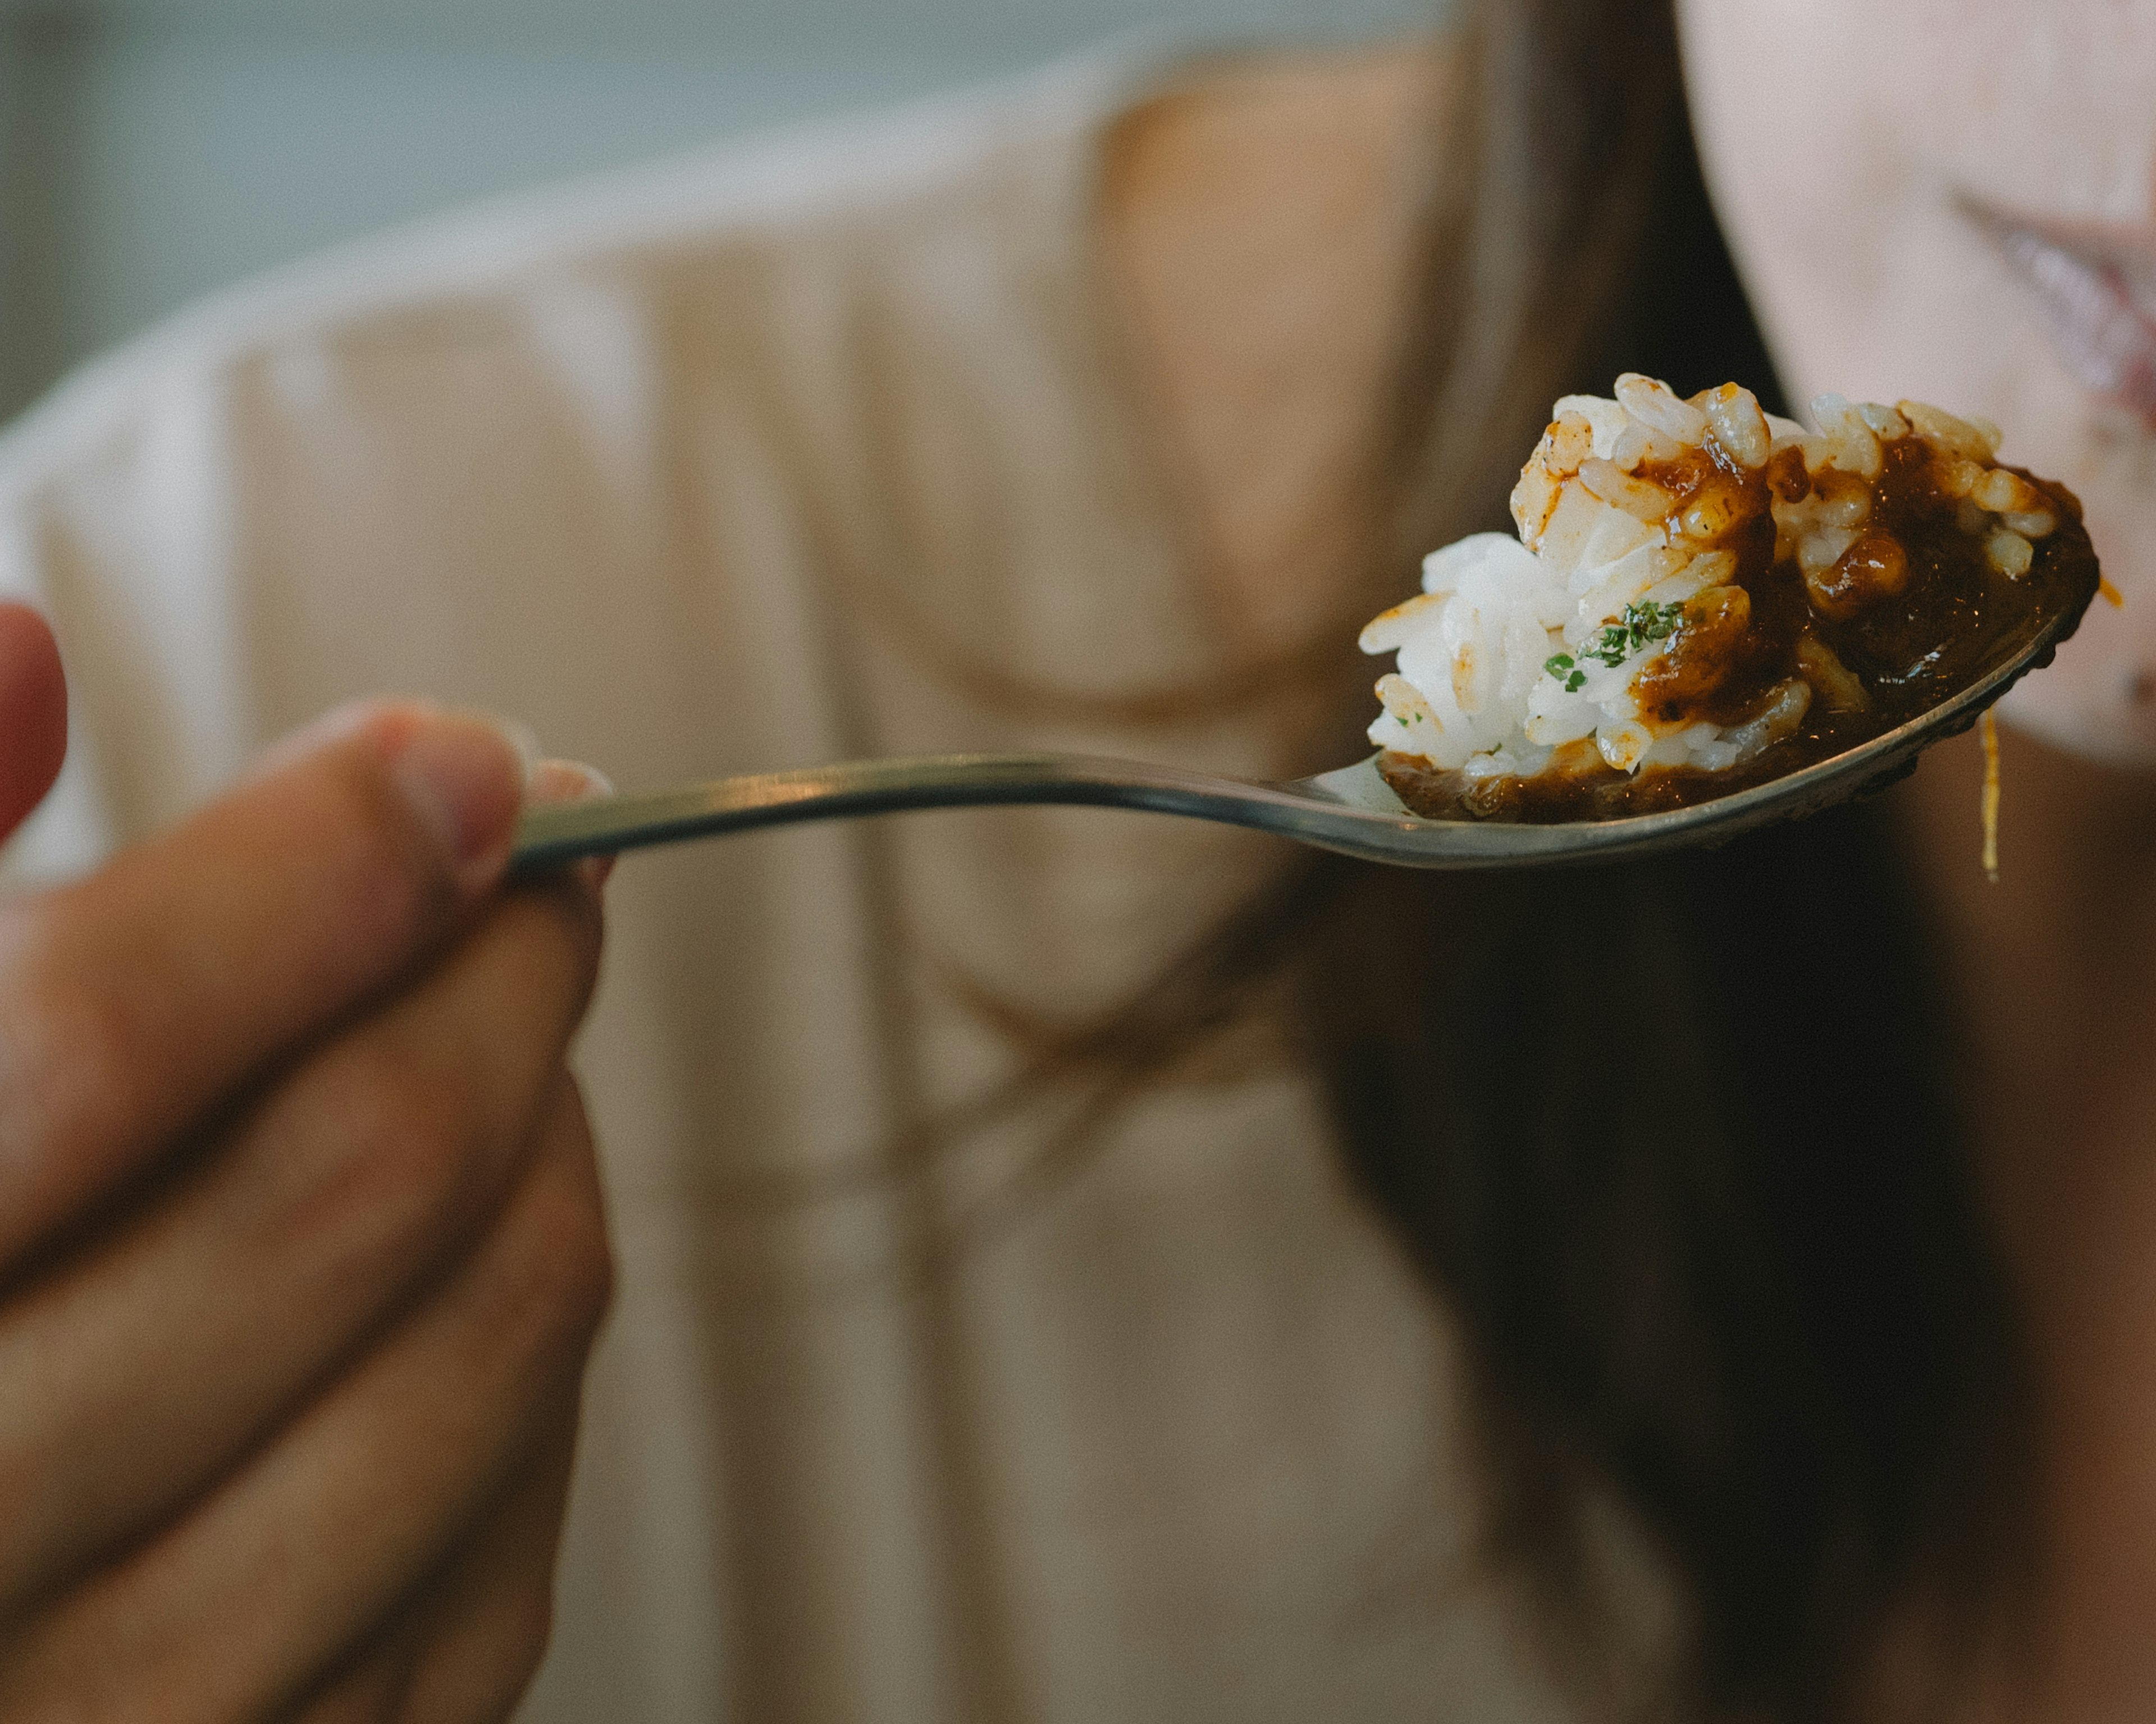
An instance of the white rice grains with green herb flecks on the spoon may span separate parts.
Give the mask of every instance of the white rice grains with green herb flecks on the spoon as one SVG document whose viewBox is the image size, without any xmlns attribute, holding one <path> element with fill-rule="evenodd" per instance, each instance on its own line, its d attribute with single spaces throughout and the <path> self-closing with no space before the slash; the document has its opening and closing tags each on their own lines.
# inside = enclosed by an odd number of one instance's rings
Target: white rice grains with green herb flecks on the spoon
<svg viewBox="0 0 2156 1724">
<path fill-rule="evenodd" d="M 1796 446 L 1813 478 L 1833 468 L 1871 481 L 1880 474 L 1880 437 L 1915 429 L 1943 459 L 1971 465 L 1973 489 L 1999 474 L 1990 468 L 1999 433 L 1988 425 L 1915 403 L 1856 407 L 1835 394 L 1813 403 L 1813 418 L 1820 431 L 1807 433 L 1761 414 L 1749 390 L 1725 386 L 1680 401 L 1639 375 L 1619 377 L 1615 399 L 1559 401 L 1514 493 L 1520 537 L 1481 532 L 1432 554 L 1423 593 L 1363 631 L 1365 653 L 1399 653 L 1397 672 L 1378 683 L 1384 711 L 1369 728 L 1371 741 L 1475 782 L 1578 769 L 1580 750 L 1570 750 L 1570 761 L 1557 750 L 1589 739 L 1604 763 L 1628 774 L 1729 771 L 1792 735 L 1813 698 L 1802 677 L 1770 690 L 1742 724 L 1671 726 L 1645 718 L 1634 694 L 1639 672 L 1662 655 L 1677 608 L 1729 582 L 1736 558 L 1712 547 L 1727 519 L 1703 509 L 1677 513 L 1677 500 L 1636 476 L 1639 468 L 1712 437 L 1753 472 Z M 1981 500 L 2027 504 L 2035 493 L 2016 485 Z M 1774 500 L 1772 509 L 1777 560 L 1794 556 L 1807 571 L 1828 569 L 1861 537 L 1869 491 L 1843 481 L 1800 504 Z M 2048 517 L 2027 509 L 2020 519 L 2001 511 L 1988 522 L 2005 537 L 2016 526 L 2050 530 Z M 1996 567 L 2016 560 L 2027 567 L 2014 545 L 1994 552 Z M 1628 621 L 1645 621 L 1645 629 Z"/>
</svg>

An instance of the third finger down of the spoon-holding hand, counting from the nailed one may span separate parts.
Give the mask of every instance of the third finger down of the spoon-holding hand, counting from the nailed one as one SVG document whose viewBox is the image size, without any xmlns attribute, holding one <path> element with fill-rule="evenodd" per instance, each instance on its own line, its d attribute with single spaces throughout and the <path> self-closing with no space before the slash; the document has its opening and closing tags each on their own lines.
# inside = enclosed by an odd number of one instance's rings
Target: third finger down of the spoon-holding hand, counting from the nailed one
<svg viewBox="0 0 2156 1724">
<path fill-rule="evenodd" d="M 558 1129 L 438 1297 L 231 1485 L 0 1644 L 0 1715 L 211 1724 L 313 1692 L 541 1455 L 608 1291 L 591 1140 Z"/>
</svg>

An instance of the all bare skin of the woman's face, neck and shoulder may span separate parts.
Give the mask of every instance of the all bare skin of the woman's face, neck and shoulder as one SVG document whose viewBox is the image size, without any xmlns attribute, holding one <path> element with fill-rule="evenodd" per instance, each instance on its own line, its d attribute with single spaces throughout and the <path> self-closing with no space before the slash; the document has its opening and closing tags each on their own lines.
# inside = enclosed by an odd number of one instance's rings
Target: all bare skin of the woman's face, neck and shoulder
<svg viewBox="0 0 2156 1724">
<path fill-rule="evenodd" d="M 2156 0 L 1680 0 L 1680 22 L 1708 177 L 1792 392 L 1994 418 L 2005 459 L 2083 498 L 2126 595 L 2005 709 L 2001 886 L 1977 868 L 1973 737 L 1934 750 L 1895 812 L 1955 965 L 2044 1399 L 2027 1646 L 1955 1670 L 1955 1715 L 2150 1718 L 2156 390 L 2091 364 L 2001 233 L 2070 248 L 2156 319 Z M 1367 506 L 1358 453 L 1410 256 L 1382 192 L 1445 84 L 1427 47 L 1229 65 L 1119 138 L 1108 254 L 1222 610 L 1255 627 L 1294 606 L 1276 547 L 1354 543 Z M 1304 567 L 1313 586 L 1352 573 Z M 1871 1715 L 1906 1715 L 1923 1644 L 1921 1621 L 1889 1633 Z"/>
</svg>

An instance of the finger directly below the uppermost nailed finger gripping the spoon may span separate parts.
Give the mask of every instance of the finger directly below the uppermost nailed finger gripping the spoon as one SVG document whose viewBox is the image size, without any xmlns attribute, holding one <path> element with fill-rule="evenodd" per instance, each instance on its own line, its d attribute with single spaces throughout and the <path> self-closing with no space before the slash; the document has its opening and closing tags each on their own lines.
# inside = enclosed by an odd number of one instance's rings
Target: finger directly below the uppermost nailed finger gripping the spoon
<svg viewBox="0 0 2156 1724">
<path fill-rule="evenodd" d="M 541 1108 L 576 1106 L 597 944 L 580 884 L 509 894 L 160 1207 L 0 1306 L 0 1610 L 205 1489 L 487 1222 Z"/>
</svg>

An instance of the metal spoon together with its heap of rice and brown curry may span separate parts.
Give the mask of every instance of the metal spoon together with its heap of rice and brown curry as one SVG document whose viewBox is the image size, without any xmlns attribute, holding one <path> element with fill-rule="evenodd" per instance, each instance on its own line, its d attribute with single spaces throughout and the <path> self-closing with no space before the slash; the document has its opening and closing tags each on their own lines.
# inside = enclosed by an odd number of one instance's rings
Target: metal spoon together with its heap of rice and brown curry
<svg viewBox="0 0 2156 1724">
<path fill-rule="evenodd" d="M 1996 427 L 1835 394 L 1813 418 L 1636 375 L 1559 401 L 1511 498 L 1520 537 L 1432 554 L 1363 631 L 1399 668 L 1352 767 L 860 761 L 535 808 L 515 866 L 992 804 L 1190 815 L 1419 868 L 1615 860 L 1815 812 L 1975 724 L 2109 584 L 2072 491 L 1999 465 Z"/>
</svg>

